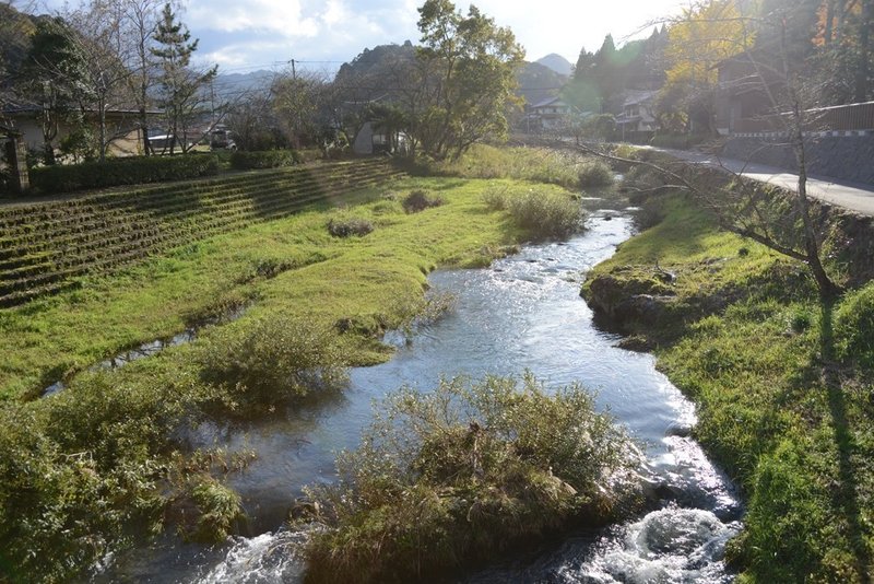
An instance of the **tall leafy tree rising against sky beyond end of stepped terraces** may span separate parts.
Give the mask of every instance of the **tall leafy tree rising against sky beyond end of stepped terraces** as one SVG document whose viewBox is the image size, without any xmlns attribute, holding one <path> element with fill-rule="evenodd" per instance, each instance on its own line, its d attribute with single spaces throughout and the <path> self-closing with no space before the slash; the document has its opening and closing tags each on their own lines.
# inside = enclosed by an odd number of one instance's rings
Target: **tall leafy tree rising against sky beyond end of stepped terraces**
<svg viewBox="0 0 874 584">
<path fill-rule="evenodd" d="M 416 82 L 426 91 L 411 112 L 411 133 L 437 159 L 506 136 L 507 109 L 519 106 L 513 90 L 524 58 L 512 32 L 473 5 L 462 15 L 449 0 L 426 0 L 418 13 L 424 46 Z"/>
</svg>

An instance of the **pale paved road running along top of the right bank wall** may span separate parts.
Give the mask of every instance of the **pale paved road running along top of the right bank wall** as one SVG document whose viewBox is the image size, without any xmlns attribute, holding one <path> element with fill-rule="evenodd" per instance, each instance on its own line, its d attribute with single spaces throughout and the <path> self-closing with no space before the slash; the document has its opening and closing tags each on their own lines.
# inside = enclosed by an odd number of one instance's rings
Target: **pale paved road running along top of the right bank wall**
<svg viewBox="0 0 874 584">
<path fill-rule="evenodd" d="M 714 154 L 704 154 L 701 152 L 668 149 L 657 150 L 689 162 L 722 167 L 729 172 L 753 178 L 754 180 L 770 183 L 792 191 L 798 189 L 799 175 L 790 173 L 784 168 L 723 159 Z M 874 162 L 872 162 L 872 164 L 874 164 Z M 836 183 L 832 178 L 813 176 L 807 178 L 807 194 L 811 197 L 838 207 L 843 207 L 857 213 L 874 215 L 874 187 L 871 185 Z"/>
</svg>

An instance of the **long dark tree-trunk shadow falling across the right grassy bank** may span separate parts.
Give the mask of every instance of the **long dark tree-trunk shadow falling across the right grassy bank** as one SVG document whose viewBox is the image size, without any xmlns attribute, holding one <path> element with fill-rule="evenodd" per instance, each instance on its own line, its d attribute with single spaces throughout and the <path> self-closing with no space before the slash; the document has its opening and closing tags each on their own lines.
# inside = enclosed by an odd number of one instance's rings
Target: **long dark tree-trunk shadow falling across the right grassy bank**
<svg viewBox="0 0 874 584">
<path fill-rule="evenodd" d="M 838 454 L 838 478 L 840 483 L 834 493 L 835 509 L 840 511 L 849 528 L 848 536 L 855 560 L 855 570 L 860 582 L 871 583 L 869 567 L 871 553 L 865 542 L 859 505 L 859 480 L 852 455 L 857 448 L 855 436 L 847 416 L 847 401 L 840 374 L 834 364 L 834 301 L 824 301 L 820 305 L 822 325 L 819 332 L 819 352 L 824 363 L 823 381 L 828 392 L 828 408 L 831 413 L 831 427 L 835 435 L 835 448 Z"/>
</svg>

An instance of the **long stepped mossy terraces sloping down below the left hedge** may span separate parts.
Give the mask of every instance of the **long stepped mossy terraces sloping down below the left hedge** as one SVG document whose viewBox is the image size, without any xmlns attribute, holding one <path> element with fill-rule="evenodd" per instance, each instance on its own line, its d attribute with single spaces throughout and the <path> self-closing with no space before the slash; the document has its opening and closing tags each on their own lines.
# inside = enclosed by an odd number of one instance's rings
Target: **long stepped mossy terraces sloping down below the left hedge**
<svg viewBox="0 0 874 584">
<path fill-rule="evenodd" d="M 0 208 L 0 306 L 400 174 L 383 161 L 352 161 Z"/>
</svg>

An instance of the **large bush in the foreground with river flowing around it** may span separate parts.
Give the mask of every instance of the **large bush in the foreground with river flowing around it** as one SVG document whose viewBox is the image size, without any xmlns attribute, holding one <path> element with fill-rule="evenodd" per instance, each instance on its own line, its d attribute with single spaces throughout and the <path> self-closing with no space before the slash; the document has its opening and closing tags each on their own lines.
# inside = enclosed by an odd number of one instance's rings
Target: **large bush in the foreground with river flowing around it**
<svg viewBox="0 0 874 584">
<path fill-rule="evenodd" d="M 600 525 L 638 463 L 579 386 L 527 375 L 391 394 L 362 446 L 317 488 L 329 528 L 307 549 L 311 582 L 403 582 L 494 558 L 571 521 Z"/>
</svg>

